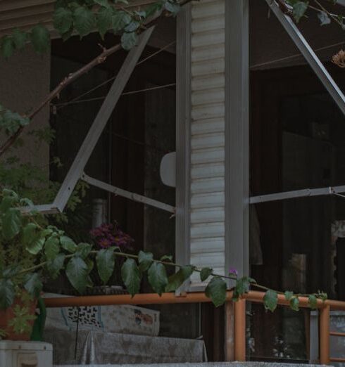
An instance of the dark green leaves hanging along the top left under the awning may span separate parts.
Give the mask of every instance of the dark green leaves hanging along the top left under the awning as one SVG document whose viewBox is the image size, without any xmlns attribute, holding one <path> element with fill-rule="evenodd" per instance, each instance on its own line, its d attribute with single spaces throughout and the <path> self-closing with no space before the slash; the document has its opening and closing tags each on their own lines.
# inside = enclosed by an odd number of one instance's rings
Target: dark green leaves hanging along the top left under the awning
<svg viewBox="0 0 345 367">
<path fill-rule="evenodd" d="M 137 44 L 138 33 L 145 29 L 146 22 L 159 11 L 176 15 L 180 11 L 177 0 L 158 0 L 143 10 L 128 10 L 126 0 L 56 0 L 53 13 L 54 29 L 63 40 L 73 34 L 80 37 L 99 32 L 102 39 L 107 32 L 120 34 L 123 49 L 130 50 Z M 0 40 L 1 55 L 9 58 L 31 42 L 35 51 L 44 53 L 50 47 L 50 34 L 43 24 L 35 25 L 25 32 L 15 29 Z"/>
</svg>

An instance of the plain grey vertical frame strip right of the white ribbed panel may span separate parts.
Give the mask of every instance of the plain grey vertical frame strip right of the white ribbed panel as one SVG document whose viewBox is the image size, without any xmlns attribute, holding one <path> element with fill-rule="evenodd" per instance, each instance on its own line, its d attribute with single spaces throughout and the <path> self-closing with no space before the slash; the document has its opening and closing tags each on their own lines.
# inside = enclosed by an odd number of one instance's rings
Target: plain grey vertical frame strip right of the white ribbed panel
<svg viewBox="0 0 345 367">
<path fill-rule="evenodd" d="M 225 271 L 249 274 L 249 1 L 226 1 Z"/>
</svg>

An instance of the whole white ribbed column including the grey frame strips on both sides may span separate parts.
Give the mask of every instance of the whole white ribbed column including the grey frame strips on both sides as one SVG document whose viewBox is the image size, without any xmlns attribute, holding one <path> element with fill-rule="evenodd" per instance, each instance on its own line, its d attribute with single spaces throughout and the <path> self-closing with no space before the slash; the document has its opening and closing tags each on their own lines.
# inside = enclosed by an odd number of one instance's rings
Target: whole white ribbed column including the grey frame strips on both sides
<svg viewBox="0 0 345 367">
<path fill-rule="evenodd" d="M 183 127 L 177 132 L 177 141 L 181 142 L 179 136 L 184 131 L 187 155 L 184 161 L 177 160 L 177 167 L 187 168 L 189 172 L 184 180 L 183 211 L 184 223 L 189 228 L 184 231 L 184 245 L 188 249 L 177 247 L 177 259 L 196 266 L 210 266 L 222 275 L 230 266 L 240 273 L 247 271 L 247 14 L 246 0 L 194 1 L 189 11 L 184 12 L 182 28 L 185 39 L 190 39 L 184 41 L 187 49 L 181 50 L 183 58 L 177 51 L 179 64 L 183 65 L 185 60 L 190 68 L 184 69 L 189 75 L 183 74 L 180 87 L 182 75 L 177 73 L 177 101 L 182 98 L 179 93 L 184 93 L 186 98 L 177 109 L 177 131 L 179 126 Z M 178 219 L 177 212 L 177 238 L 182 228 Z M 184 255 L 179 256 L 182 252 Z M 196 274 L 192 286 L 200 285 Z"/>
</svg>

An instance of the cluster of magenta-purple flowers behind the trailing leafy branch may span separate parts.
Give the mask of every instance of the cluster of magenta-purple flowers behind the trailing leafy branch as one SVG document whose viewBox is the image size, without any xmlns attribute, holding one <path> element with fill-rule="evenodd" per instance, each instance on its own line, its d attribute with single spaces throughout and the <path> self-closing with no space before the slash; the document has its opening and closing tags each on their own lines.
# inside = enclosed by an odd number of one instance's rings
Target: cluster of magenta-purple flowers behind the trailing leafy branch
<svg viewBox="0 0 345 367">
<path fill-rule="evenodd" d="M 117 222 L 102 224 L 99 227 L 93 228 L 90 235 L 101 248 L 118 246 L 121 250 L 132 250 L 133 238 L 121 231 Z"/>
</svg>

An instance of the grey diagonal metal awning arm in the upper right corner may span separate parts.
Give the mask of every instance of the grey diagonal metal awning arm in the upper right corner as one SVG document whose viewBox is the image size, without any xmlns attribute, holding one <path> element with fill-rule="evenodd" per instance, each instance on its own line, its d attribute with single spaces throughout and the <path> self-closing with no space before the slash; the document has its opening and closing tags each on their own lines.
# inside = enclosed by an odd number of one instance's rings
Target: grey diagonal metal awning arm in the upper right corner
<svg viewBox="0 0 345 367">
<path fill-rule="evenodd" d="M 330 93 L 334 102 L 337 103 L 341 112 L 345 115 L 345 96 L 342 91 L 337 86 L 337 83 L 334 82 L 330 73 L 327 72 L 324 65 L 322 65 L 318 56 L 313 51 L 311 46 L 308 44 L 306 39 L 303 37 L 303 34 L 299 31 L 299 28 L 295 25 L 294 20 L 287 14 L 284 14 L 280 7 L 278 6 L 275 0 L 265 0 L 273 13 L 275 13 L 278 20 L 282 23 L 282 26 L 287 31 L 289 36 L 291 37 L 294 44 L 296 44 L 299 51 L 301 51 L 304 58 L 306 58 L 311 68 L 314 70 L 315 74 L 320 79 L 320 82 L 325 86 L 327 91 Z"/>
</svg>

